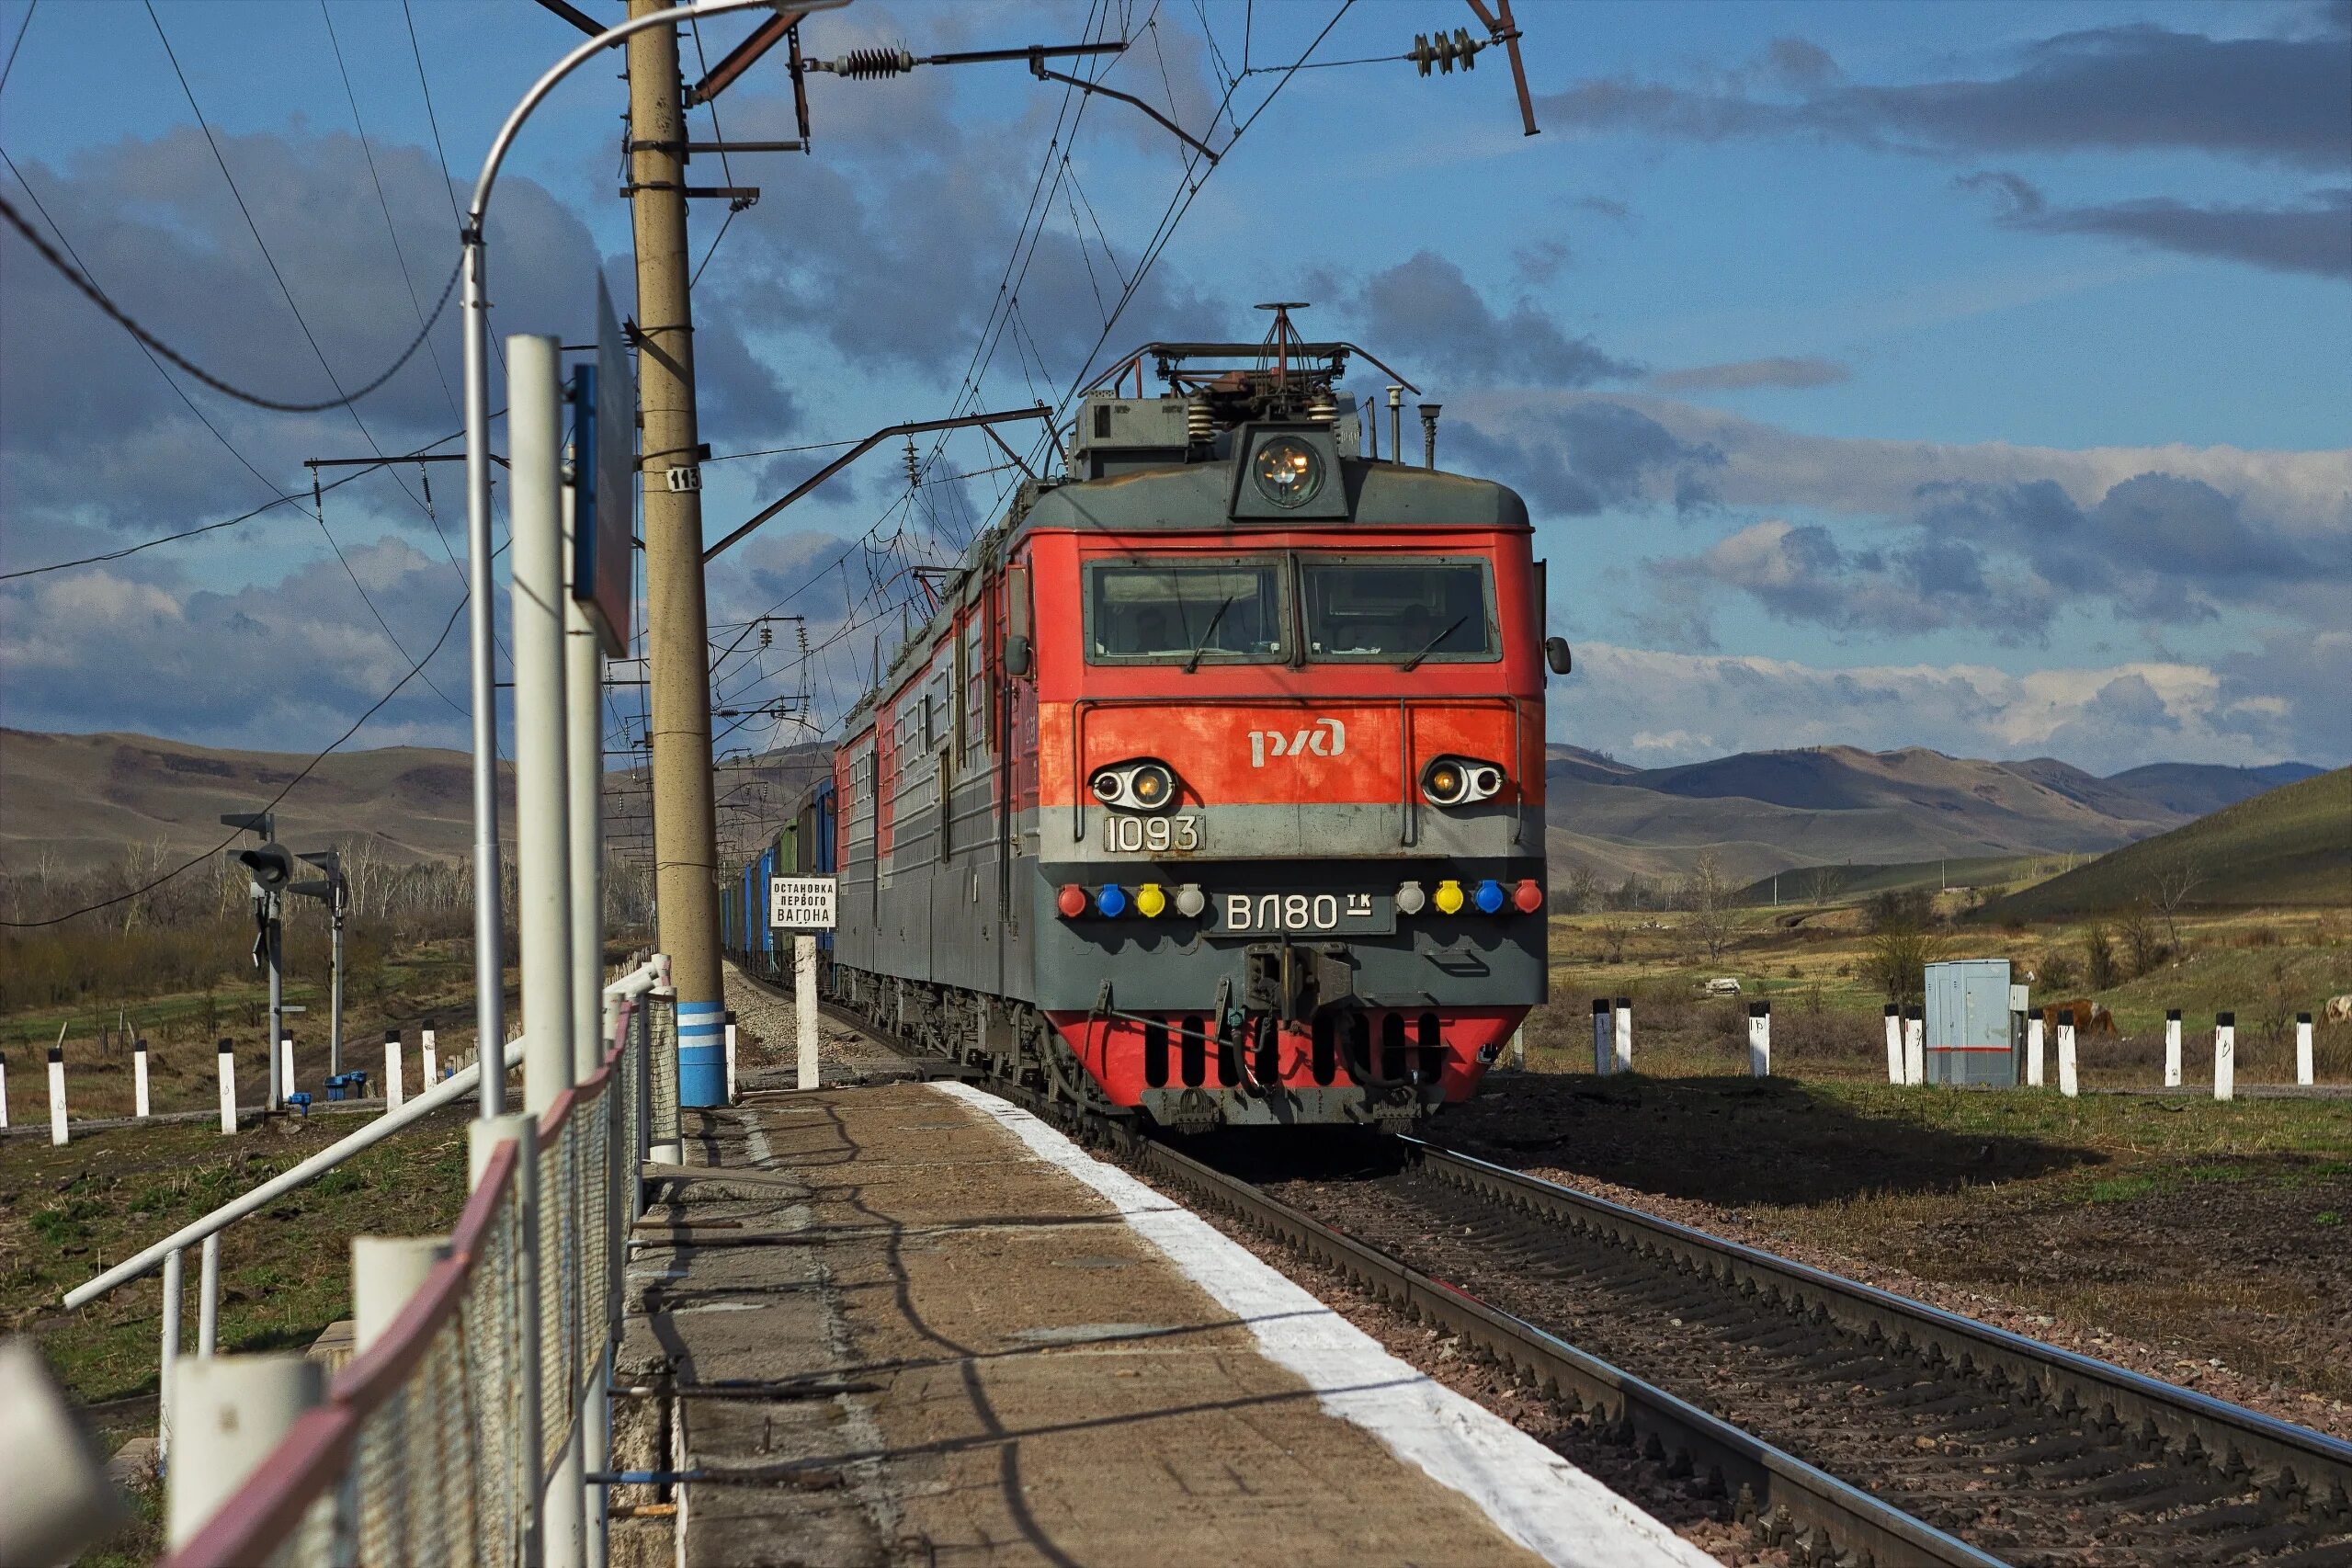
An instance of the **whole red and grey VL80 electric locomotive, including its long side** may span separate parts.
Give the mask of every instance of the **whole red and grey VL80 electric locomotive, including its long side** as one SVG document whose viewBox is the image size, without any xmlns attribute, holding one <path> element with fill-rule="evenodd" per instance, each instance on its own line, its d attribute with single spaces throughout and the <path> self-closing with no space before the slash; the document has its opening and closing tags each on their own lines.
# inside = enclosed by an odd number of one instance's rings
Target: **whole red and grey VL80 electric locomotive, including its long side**
<svg viewBox="0 0 2352 1568">
<path fill-rule="evenodd" d="M 1277 313 L 1084 395 L 1068 473 L 974 543 L 776 846 L 840 877 L 835 1001 L 1178 1131 L 1472 1093 L 1545 994 L 1569 649 L 1519 496 L 1367 456 L 1350 353 Z M 753 959 L 776 849 L 729 898 Z"/>
</svg>

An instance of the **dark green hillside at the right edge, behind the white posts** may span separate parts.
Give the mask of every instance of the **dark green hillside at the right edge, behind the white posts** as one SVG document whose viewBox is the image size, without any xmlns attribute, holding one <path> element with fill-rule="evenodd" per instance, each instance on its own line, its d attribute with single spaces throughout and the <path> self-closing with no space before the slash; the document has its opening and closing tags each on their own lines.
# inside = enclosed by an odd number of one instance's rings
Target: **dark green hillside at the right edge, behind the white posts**
<svg viewBox="0 0 2352 1568">
<path fill-rule="evenodd" d="M 2187 907 L 2352 903 L 2352 769 L 2314 773 L 1985 905 L 1985 919 L 2065 919 L 2190 877 Z"/>
</svg>

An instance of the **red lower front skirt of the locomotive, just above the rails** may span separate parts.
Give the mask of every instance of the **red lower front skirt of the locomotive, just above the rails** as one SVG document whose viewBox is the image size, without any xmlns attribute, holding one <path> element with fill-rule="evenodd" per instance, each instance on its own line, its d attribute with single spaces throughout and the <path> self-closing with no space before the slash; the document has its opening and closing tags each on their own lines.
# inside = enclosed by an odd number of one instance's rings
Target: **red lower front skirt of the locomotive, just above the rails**
<svg viewBox="0 0 2352 1568">
<path fill-rule="evenodd" d="M 1338 1009 L 1315 1023 L 1270 1032 L 1261 1025 L 1247 1048 L 1214 1039 L 1204 1013 L 1167 1013 L 1162 1025 L 1089 1013 L 1047 1018 L 1115 1105 L 1141 1105 L 1145 1088 L 1270 1084 L 1437 1084 L 1456 1103 L 1470 1098 L 1526 1009 Z"/>
</svg>

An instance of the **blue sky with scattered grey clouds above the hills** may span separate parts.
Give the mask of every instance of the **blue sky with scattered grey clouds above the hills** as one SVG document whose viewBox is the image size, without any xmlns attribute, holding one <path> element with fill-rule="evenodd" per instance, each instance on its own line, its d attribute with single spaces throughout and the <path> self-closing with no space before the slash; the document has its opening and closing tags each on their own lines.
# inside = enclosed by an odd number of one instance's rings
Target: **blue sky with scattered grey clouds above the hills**
<svg viewBox="0 0 2352 1568">
<path fill-rule="evenodd" d="M 1442 456 L 1529 496 L 1555 628 L 1583 649 L 1555 738 L 1651 764 L 1811 743 L 2093 771 L 2352 762 L 2352 7 L 1529 0 L 1534 139 L 1498 52 L 1430 80 L 1263 71 L 1334 9 L 858 0 L 804 35 L 814 56 L 1129 38 L 1110 85 L 1218 148 L 1247 120 L 1105 353 L 1256 331 L 1254 301 L 1312 299 L 1310 331 L 1444 400 Z M 1456 9 L 1359 0 L 1310 59 L 1477 31 Z M 24 179 L 0 167 L 0 193 L 165 341 L 285 397 L 325 393 L 303 324 L 339 376 L 367 376 L 454 261 L 419 66 L 470 183 L 576 38 L 522 0 L 155 16 L 303 322 L 139 5 L 42 0 L 28 26 L 0 5 L 0 42 L 21 28 L 0 148 Z M 748 26 L 706 26 L 708 56 Z M 1244 31 L 1261 73 L 1232 85 Z M 600 261 L 628 308 L 621 103 L 590 66 L 524 132 L 494 221 L 501 331 L 579 341 Z M 696 292 L 715 451 L 1065 393 L 1183 188 L 1183 148 L 1110 101 L 1073 132 L 1065 94 L 1021 66 L 814 78 L 811 106 L 811 158 L 736 160 L 764 195 Z M 717 113 L 736 139 L 790 134 L 781 68 Z M 722 179 L 715 160 L 694 176 Z M 1033 190 L 1049 200 L 1023 230 Z M 699 249 L 722 219 L 696 205 Z M 0 268 L 0 571 L 235 517 L 306 487 L 306 456 L 456 428 L 449 320 L 358 423 L 278 416 L 183 400 L 14 233 Z M 816 646 L 788 658 L 786 628 L 729 691 L 851 696 L 903 567 L 950 557 L 1000 505 L 993 451 L 946 442 L 915 494 L 877 451 L 724 557 L 715 621 L 781 599 Z M 706 527 L 821 458 L 713 463 Z M 280 505 L 0 581 L 0 722 L 325 745 L 454 609 L 456 489 L 437 470 L 428 515 L 414 468 L 374 475 L 327 496 L 325 534 Z M 355 745 L 459 743 L 461 644 Z M 769 733 L 797 731 L 736 738 Z"/>
</svg>

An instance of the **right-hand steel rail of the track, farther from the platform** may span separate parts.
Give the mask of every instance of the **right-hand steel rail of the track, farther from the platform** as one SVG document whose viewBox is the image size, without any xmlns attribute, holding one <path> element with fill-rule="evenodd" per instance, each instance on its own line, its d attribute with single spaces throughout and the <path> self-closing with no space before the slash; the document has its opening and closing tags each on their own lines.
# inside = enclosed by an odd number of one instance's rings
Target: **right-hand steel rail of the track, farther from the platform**
<svg viewBox="0 0 2352 1568">
<path fill-rule="evenodd" d="M 1576 1192 L 1557 1182 L 1458 1154 L 1421 1138 L 1399 1138 L 1432 1175 L 1541 1213 L 1550 1220 L 1604 1234 L 1642 1253 L 1672 1258 L 1733 1291 L 1778 1298 L 1802 1312 L 1820 1312 L 1837 1328 L 1860 1338 L 1884 1338 L 1910 1347 L 1931 1363 L 2006 1382 L 2027 1403 L 2058 1410 L 2079 1408 L 2098 1427 L 2154 1432 L 2180 1458 L 2206 1458 L 2223 1472 L 2249 1467 L 2281 1497 L 2307 1497 L 2321 1512 L 2352 1514 L 2352 1443 L 2298 1427 L 2260 1410 L 2234 1406 L 2145 1373 L 2030 1340 L 2006 1328 L 1931 1307 L 1893 1291 L 1844 1279 L 1776 1253 L 1712 1237 L 1625 1204 Z"/>
</svg>

